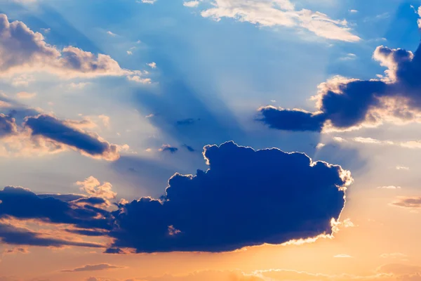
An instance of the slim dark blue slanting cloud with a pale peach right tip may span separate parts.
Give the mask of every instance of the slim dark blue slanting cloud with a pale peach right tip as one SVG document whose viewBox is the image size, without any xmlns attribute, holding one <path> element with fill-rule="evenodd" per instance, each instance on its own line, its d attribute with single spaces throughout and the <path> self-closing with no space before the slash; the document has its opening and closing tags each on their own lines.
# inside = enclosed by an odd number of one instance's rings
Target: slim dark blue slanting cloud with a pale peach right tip
<svg viewBox="0 0 421 281">
<path fill-rule="evenodd" d="M 81 151 L 92 157 L 115 160 L 119 157 L 116 145 L 103 141 L 99 136 L 67 126 L 50 115 L 27 117 L 25 126 L 32 129 L 32 136 L 43 136 Z"/>
</svg>

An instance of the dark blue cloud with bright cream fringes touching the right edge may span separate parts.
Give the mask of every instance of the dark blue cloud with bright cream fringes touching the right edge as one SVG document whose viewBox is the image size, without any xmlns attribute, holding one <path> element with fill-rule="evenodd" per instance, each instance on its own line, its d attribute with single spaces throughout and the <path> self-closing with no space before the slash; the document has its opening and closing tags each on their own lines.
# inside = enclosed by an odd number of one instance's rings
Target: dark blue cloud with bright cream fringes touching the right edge
<svg viewBox="0 0 421 281">
<path fill-rule="evenodd" d="M 336 77 L 319 86 L 316 112 L 260 108 L 260 120 L 274 129 L 321 131 L 323 126 L 352 129 L 381 122 L 410 122 L 421 112 L 421 48 L 413 54 L 379 46 L 373 58 L 386 77 L 362 81 Z"/>
</svg>

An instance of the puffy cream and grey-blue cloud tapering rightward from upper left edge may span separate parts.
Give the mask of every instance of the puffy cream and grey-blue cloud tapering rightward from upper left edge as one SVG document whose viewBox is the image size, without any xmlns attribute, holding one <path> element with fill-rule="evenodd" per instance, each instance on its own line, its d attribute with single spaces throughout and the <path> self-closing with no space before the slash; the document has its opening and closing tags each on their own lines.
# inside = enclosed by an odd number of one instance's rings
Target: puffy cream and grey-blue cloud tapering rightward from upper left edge
<svg viewBox="0 0 421 281">
<path fill-rule="evenodd" d="M 9 22 L 0 14 L 0 76 L 27 72 L 49 72 L 61 78 L 126 76 L 132 81 L 142 72 L 125 70 L 109 55 L 83 51 L 74 46 L 59 50 L 46 43 L 44 36 L 33 32 L 20 21 Z"/>
</svg>

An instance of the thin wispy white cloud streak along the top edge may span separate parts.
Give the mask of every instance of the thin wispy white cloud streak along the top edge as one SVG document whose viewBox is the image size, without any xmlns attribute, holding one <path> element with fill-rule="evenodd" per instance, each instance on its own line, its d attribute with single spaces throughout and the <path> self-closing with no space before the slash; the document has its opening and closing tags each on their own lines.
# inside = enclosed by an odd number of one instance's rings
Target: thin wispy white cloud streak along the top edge
<svg viewBox="0 0 421 281">
<path fill-rule="evenodd" d="M 347 27 L 347 20 L 333 20 L 324 13 L 307 9 L 295 10 L 289 0 L 215 0 L 212 4 L 212 8 L 201 12 L 204 18 L 234 18 L 266 27 L 308 30 L 326 39 L 349 42 L 361 40 Z"/>
</svg>

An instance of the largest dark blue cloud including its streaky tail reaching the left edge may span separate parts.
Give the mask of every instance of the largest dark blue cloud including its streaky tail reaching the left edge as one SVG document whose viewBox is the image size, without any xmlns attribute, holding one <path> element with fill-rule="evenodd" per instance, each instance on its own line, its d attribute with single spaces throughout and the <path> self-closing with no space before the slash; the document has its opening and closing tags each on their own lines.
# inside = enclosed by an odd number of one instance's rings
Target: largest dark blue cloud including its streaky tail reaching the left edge
<svg viewBox="0 0 421 281">
<path fill-rule="evenodd" d="M 123 248 L 230 251 L 332 233 L 331 220 L 340 216 L 345 187 L 352 181 L 340 166 L 276 148 L 253 150 L 227 142 L 207 145 L 203 155 L 208 171 L 173 175 L 159 200 L 142 197 L 116 204 L 110 212 L 98 197 L 36 195 L 6 187 L 0 190 L 0 219 L 68 224 L 67 233 L 111 237 L 109 254 L 123 254 Z M 0 225 L 4 243 L 105 247 Z"/>
</svg>

